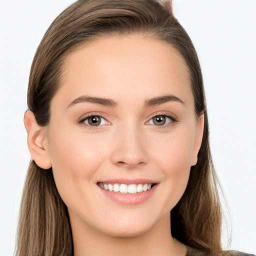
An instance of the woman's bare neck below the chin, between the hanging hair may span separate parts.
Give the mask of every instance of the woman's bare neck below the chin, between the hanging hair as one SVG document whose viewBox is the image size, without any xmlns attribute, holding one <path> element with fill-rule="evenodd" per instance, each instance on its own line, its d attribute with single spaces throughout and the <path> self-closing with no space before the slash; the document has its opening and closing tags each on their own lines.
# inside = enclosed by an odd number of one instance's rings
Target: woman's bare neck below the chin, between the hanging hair
<svg viewBox="0 0 256 256">
<path fill-rule="evenodd" d="M 164 216 L 150 230 L 132 237 L 118 237 L 93 228 L 72 224 L 74 256 L 170 255 L 184 256 L 185 246 L 170 233 L 170 216 Z"/>
</svg>

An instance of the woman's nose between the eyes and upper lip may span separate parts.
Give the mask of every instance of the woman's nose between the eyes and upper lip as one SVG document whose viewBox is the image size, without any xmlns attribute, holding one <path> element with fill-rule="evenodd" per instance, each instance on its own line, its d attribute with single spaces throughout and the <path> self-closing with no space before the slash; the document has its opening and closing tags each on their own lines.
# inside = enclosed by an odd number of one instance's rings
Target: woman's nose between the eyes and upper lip
<svg viewBox="0 0 256 256">
<path fill-rule="evenodd" d="M 148 162 L 146 141 L 136 128 L 125 128 L 115 132 L 110 160 L 113 164 L 134 168 Z"/>
</svg>

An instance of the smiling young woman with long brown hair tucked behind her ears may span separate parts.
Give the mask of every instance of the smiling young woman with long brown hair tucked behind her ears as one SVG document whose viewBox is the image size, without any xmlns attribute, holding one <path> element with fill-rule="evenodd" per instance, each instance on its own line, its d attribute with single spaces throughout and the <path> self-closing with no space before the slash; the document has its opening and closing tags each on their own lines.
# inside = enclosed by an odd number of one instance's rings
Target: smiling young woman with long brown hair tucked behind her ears
<svg viewBox="0 0 256 256">
<path fill-rule="evenodd" d="M 46 31 L 17 255 L 236 253 L 220 244 L 199 62 L 164 4 L 80 0 Z"/>
</svg>

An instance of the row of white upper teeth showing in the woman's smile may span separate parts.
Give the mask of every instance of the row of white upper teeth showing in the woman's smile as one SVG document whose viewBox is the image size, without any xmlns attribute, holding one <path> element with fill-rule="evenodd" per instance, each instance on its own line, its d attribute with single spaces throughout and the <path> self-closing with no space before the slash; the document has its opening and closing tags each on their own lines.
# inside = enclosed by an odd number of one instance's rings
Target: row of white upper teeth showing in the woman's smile
<svg viewBox="0 0 256 256">
<path fill-rule="evenodd" d="M 105 190 L 120 192 L 120 193 L 141 193 L 151 189 L 152 184 L 106 184 L 99 182 L 98 185 Z"/>
</svg>

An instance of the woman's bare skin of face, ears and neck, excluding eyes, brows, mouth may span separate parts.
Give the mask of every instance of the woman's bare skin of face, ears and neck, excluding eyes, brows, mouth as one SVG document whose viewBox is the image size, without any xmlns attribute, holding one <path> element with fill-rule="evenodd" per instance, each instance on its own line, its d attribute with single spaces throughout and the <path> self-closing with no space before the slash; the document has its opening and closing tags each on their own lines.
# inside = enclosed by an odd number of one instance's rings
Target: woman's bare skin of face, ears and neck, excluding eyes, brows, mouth
<svg viewBox="0 0 256 256">
<path fill-rule="evenodd" d="M 26 112 L 31 156 L 40 167 L 52 167 L 75 256 L 185 255 L 185 246 L 171 236 L 169 212 L 185 190 L 203 133 L 189 83 L 182 57 L 169 44 L 143 36 L 101 37 L 65 59 L 49 124 L 38 126 Z M 83 95 L 116 105 L 70 105 Z M 162 95 L 182 102 L 144 105 Z M 79 123 L 88 114 L 104 119 L 93 127 Z M 156 125 L 152 117 L 163 114 L 175 120 Z M 97 185 L 110 178 L 150 178 L 157 187 L 143 203 L 122 205 Z"/>
</svg>

